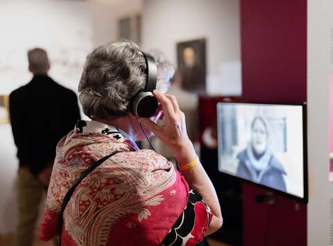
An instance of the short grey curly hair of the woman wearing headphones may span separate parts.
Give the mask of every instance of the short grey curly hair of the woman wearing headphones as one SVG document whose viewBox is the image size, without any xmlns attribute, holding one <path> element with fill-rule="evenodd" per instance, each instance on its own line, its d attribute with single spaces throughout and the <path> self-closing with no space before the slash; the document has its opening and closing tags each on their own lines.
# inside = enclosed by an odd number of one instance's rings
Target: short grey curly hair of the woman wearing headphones
<svg viewBox="0 0 333 246">
<path fill-rule="evenodd" d="M 161 53 L 150 52 L 157 65 L 156 89 L 167 91 L 173 65 Z M 130 100 L 146 85 L 146 62 L 133 42 L 103 44 L 87 55 L 78 91 L 83 112 L 90 118 L 125 116 Z"/>
</svg>

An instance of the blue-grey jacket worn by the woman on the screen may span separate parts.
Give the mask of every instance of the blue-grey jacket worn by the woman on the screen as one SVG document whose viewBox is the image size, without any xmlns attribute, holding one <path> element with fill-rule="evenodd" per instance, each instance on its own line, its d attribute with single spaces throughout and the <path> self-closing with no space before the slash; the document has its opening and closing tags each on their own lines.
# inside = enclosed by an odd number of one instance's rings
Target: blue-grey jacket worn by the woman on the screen
<svg viewBox="0 0 333 246">
<path fill-rule="evenodd" d="M 258 184 L 264 184 L 271 188 L 276 188 L 279 191 L 287 191 L 286 182 L 284 182 L 283 177 L 283 175 L 287 173 L 274 155 L 271 155 L 268 166 L 259 174 L 256 173 L 255 168 L 250 164 L 246 150 L 239 152 L 237 158 L 239 159 L 239 166 L 237 168 L 238 177 L 248 179 Z"/>
</svg>

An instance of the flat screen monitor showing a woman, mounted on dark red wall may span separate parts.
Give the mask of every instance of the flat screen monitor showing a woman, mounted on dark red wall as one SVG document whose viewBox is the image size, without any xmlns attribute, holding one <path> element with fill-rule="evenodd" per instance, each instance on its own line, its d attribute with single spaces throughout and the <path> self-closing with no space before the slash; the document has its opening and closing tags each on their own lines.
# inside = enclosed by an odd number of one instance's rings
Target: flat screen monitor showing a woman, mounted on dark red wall
<svg viewBox="0 0 333 246">
<path fill-rule="evenodd" d="M 306 105 L 218 103 L 219 171 L 307 202 Z"/>
</svg>

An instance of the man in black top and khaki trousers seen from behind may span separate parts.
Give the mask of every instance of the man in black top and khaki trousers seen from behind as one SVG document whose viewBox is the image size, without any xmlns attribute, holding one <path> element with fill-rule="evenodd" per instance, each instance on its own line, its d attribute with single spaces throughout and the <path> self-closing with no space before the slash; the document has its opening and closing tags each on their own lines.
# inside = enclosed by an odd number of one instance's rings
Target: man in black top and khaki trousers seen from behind
<svg viewBox="0 0 333 246">
<path fill-rule="evenodd" d="M 49 59 L 43 49 L 28 51 L 33 79 L 10 94 L 10 121 L 19 173 L 18 225 L 15 245 L 32 245 L 42 195 L 51 177 L 58 141 L 80 120 L 74 91 L 48 75 Z"/>
</svg>

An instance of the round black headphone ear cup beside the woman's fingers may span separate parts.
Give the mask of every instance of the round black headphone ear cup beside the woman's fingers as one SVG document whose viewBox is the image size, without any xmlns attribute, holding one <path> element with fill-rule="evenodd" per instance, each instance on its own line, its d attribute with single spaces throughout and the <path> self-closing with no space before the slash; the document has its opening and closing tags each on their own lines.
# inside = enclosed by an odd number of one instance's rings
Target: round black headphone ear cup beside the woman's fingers
<svg viewBox="0 0 333 246">
<path fill-rule="evenodd" d="M 150 118 L 157 110 L 158 102 L 150 91 L 142 91 L 135 96 L 132 110 L 136 116 Z"/>
</svg>

